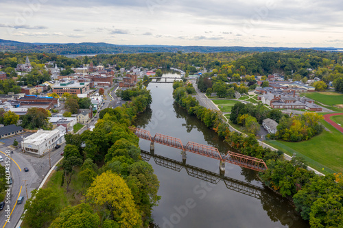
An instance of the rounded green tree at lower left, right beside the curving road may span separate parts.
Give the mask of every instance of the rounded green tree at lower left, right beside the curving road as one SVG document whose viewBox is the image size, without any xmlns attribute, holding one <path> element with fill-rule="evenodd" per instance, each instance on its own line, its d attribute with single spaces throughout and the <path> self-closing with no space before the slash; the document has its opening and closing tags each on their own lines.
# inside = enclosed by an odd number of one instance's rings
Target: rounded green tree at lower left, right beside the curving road
<svg viewBox="0 0 343 228">
<path fill-rule="evenodd" d="M 25 202 L 22 218 L 29 227 L 43 227 L 60 210 L 59 200 L 58 194 L 52 188 L 34 189 L 31 198 Z"/>
</svg>

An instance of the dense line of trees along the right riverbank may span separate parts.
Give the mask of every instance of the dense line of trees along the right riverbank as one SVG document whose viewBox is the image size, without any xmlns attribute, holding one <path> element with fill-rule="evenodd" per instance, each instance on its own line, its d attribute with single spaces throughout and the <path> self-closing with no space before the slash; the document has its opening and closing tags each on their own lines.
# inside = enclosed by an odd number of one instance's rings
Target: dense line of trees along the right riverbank
<svg viewBox="0 0 343 228">
<path fill-rule="evenodd" d="M 220 112 L 200 106 L 198 101 L 187 94 L 182 86 L 174 88 L 173 97 L 174 101 L 185 108 L 189 114 L 197 116 L 206 127 L 215 130 L 230 147 L 244 155 L 264 160 L 268 170 L 259 173 L 259 177 L 265 186 L 279 192 L 283 197 L 292 199 L 296 210 L 300 212 L 303 219 L 309 220 L 311 227 L 343 225 L 342 174 L 318 176 L 306 169 L 307 163 L 303 158 L 293 157 L 291 161 L 287 161 L 283 157 L 283 152 L 261 147 L 253 134 L 245 137 L 235 131 L 230 131 L 227 123 L 222 120 Z M 246 107 L 237 104 L 233 112 L 235 116 L 239 116 L 239 110 L 244 109 L 246 110 Z M 273 111 L 270 117 L 279 122 L 286 118 L 276 111 Z M 302 118 L 305 118 L 307 122 L 315 122 L 320 117 L 308 114 Z M 292 120 L 292 118 L 287 119 Z M 307 123 L 307 125 L 311 124 Z"/>
</svg>

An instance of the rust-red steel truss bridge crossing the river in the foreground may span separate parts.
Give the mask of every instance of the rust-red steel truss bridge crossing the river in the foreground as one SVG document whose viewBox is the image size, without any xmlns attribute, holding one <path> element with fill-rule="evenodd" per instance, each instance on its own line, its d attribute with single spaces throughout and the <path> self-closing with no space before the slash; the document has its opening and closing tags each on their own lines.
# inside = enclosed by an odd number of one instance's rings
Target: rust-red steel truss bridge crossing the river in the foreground
<svg viewBox="0 0 343 228">
<path fill-rule="evenodd" d="M 210 147 L 196 142 L 187 142 L 187 144 L 184 146 L 179 138 L 165 136 L 158 133 L 156 133 L 155 136 L 152 137 L 150 132 L 145 129 L 140 129 L 137 127 L 129 127 L 129 129 L 133 131 L 134 134 L 138 136 L 138 138 L 149 140 L 152 143 L 156 142 L 168 147 L 181 149 L 184 152 L 189 151 L 191 153 L 197 153 L 202 156 L 220 160 L 221 162 L 228 162 L 230 164 L 235 164 L 244 168 L 250 168 L 259 172 L 263 172 L 268 169 L 265 162 L 256 157 L 250 157 L 247 155 L 242 155 L 240 153 L 233 153 L 231 151 L 228 151 L 227 153 L 225 153 L 225 155 L 222 155 L 222 153 L 220 153 L 220 151 L 218 151 L 218 149 L 215 147 Z"/>
</svg>

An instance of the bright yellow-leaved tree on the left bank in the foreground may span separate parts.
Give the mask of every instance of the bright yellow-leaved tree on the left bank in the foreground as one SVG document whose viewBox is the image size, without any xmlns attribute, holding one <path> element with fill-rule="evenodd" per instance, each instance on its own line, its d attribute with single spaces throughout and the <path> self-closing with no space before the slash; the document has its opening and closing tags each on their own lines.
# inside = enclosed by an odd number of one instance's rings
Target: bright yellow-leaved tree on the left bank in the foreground
<svg viewBox="0 0 343 228">
<path fill-rule="evenodd" d="M 86 198 L 89 203 L 109 210 L 120 227 L 140 227 L 141 215 L 130 188 L 119 175 L 110 171 L 99 175 L 88 189 Z"/>
</svg>

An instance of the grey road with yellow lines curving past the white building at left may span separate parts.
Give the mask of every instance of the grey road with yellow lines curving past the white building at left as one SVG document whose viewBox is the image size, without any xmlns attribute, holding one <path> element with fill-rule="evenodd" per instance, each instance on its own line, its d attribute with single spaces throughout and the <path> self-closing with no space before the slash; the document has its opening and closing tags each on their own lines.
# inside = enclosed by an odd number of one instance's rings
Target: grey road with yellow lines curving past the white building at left
<svg viewBox="0 0 343 228">
<path fill-rule="evenodd" d="M 114 86 L 114 89 L 110 91 L 110 88 L 105 90 L 106 100 L 104 101 L 104 106 L 102 109 L 106 107 L 117 107 L 124 103 L 117 103 L 119 98 L 115 96 L 115 90 L 118 88 L 118 85 Z M 108 91 L 110 94 L 108 94 Z M 95 125 L 97 119 L 99 118 L 99 112 L 95 115 L 95 117 L 88 123 L 86 127 L 79 131 L 79 134 L 82 134 L 83 131 L 88 129 L 88 126 Z M 28 136 L 29 134 L 25 133 L 24 137 Z M 1 139 L 0 142 L 0 154 L 2 155 L 4 161 L 6 162 L 6 151 L 10 151 L 12 149 L 8 148 L 12 145 L 14 138 L 20 143 L 21 142 L 21 135 L 11 136 L 10 138 Z M 58 160 L 60 160 L 61 153 L 64 150 L 65 144 L 62 144 L 59 149 L 54 149 L 50 153 L 50 162 L 49 162 L 49 153 L 45 154 L 43 157 L 34 157 L 33 155 L 29 155 L 28 153 L 21 152 L 21 149 L 14 150 L 14 153 L 10 154 L 8 157 L 8 163 L 10 164 L 10 173 L 12 176 L 12 186 L 10 186 L 10 203 L 6 203 L 10 205 L 10 220 L 6 221 L 5 215 L 7 212 L 4 210 L 0 211 L 0 228 L 12 228 L 16 227 L 16 224 L 19 222 L 21 214 L 24 211 L 24 205 L 28 198 L 31 197 L 31 192 L 34 189 L 37 189 L 40 186 L 40 183 L 45 178 L 45 175 L 49 172 L 50 164 L 54 166 Z M 1 162 L 1 165 L 5 166 L 5 162 Z M 24 171 L 24 168 L 27 167 L 29 169 L 28 172 Z M 25 180 L 26 180 L 26 189 L 25 189 Z M 16 200 L 18 197 L 24 197 L 24 202 L 22 204 L 17 204 Z"/>
</svg>

